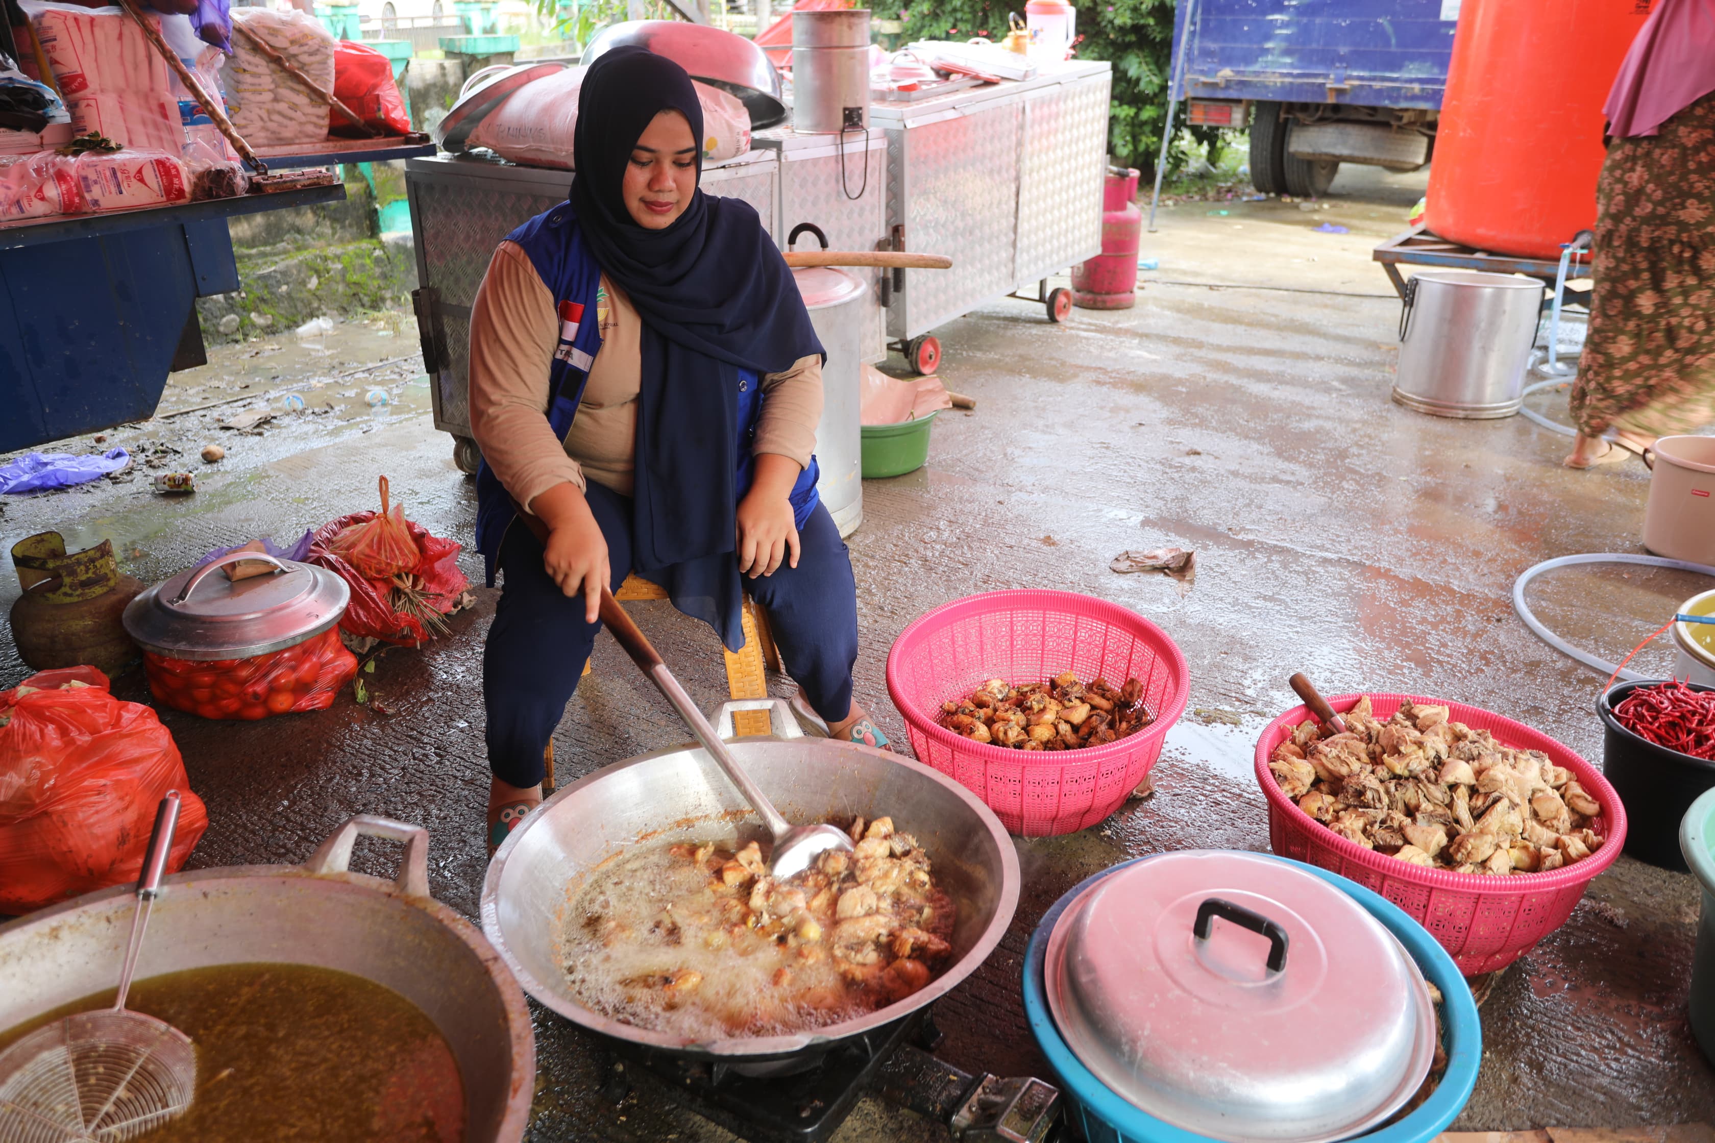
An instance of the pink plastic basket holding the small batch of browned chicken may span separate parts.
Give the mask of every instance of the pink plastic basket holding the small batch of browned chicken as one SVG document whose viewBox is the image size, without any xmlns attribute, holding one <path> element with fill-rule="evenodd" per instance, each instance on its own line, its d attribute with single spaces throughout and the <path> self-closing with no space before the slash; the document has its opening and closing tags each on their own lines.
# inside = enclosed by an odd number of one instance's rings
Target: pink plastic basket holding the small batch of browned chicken
<svg viewBox="0 0 1715 1143">
<path fill-rule="evenodd" d="M 1156 721 L 1108 745 L 1055 752 L 971 742 L 935 723 L 942 703 L 986 679 L 1029 684 L 1067 670 L 1113 685 L 1140 679 Z M 887 656 L 887 692 L 919 761 L 964 783 L 1007 829 L 1034 838 L 1094 826 L 1120 809 L 1185 711 L 1187 672 L 1173 639 L 1123 607 L 1070 591 L 991 591 L 906 627 Z"/>
</svg>

